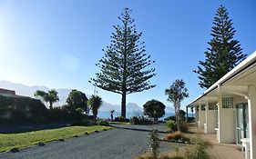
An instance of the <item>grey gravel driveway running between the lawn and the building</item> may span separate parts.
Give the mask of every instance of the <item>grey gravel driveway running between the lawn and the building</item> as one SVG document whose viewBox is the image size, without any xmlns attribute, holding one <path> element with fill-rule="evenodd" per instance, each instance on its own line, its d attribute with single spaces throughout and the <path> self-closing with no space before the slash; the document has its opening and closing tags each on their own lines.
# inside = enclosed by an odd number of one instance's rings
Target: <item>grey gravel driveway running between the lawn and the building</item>
<svg viewBox="0 0 256 159">
<path fill-rule="evenodd" d="M 115 125 L 119 128 L 79 136 L 64 142 L 33 146 L 18 153 L 2 153 L 0 159 L 125 159 L 144 154 L 148 148 L 148 131 L 156 126 Z M 164 126 L 160 126 L 164 128 Z M 171 149 L 162 143 L 161 152 Z"/>
</svg>

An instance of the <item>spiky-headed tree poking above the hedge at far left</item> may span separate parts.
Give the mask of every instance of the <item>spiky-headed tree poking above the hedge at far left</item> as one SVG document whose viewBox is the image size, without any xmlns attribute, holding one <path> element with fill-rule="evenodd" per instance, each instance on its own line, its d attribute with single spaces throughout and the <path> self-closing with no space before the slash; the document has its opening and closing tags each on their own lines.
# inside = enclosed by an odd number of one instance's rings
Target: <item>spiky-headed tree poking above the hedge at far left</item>
<svg viewBox="0 0 256 159">
<path fill-rule="evenodd" d="M 55 89 L 49 90 L 48 93 L 46 93 L 45 91 L 36 90 L 34 95 L 41 96 L 46 103 L 48 102 L 50 109 L 53 109 L 53 104 L 56 101 L 59 101 L 59 98 L 57 96 L 57 92 Z"/>
</svg>

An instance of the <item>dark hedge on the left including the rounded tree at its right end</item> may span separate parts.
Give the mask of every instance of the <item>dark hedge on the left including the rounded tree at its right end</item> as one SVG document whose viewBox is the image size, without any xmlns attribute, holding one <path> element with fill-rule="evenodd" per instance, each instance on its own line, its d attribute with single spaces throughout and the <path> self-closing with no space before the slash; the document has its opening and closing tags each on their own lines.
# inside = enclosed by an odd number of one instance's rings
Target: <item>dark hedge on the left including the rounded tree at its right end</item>
<svg viewBox="0 0 256 159">
<path fill-rule="evenodd" d="M 49 96 L 44 97 L 43 101 L 51 101 Z M 89 118 L 88 110 L 87 97 L 77 90 L 71 91 L 65 105 L 53 107 L 50 102 L 50 109 L 47 109 L 39 99 L 19 95 L 0 95 L 1 124 L 72 123 Z"/>
</svg>

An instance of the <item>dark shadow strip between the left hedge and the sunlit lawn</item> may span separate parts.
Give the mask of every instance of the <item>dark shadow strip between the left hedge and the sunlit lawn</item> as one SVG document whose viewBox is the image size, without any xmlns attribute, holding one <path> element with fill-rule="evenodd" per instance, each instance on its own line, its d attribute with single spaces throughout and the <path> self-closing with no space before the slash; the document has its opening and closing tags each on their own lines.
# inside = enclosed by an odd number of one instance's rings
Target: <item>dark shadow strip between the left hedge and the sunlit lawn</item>
<svg viewBox="0 0 256 159">
<path fill-rule="evenodd" d="M 11 133 L 26 133 L 45 129 L 55 129 L 60 127 L 67 127 L 70 124 L 58 123 L 58 124 L 0 124 L 0 134 Z"/>
</svg>

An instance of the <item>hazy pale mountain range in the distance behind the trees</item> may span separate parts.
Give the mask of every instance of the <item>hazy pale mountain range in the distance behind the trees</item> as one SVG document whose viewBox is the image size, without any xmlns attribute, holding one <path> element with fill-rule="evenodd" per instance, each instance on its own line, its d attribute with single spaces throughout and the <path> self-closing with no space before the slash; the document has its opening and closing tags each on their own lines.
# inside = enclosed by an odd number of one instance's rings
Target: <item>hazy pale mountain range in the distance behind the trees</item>
<svg viewBox="0 0 256 159">
<path fill-rule="evenodd" d="M 34 93 L 36 92 L 36 90 L 43 90 L 43 91 L 49 90 L 49 88 L 47 88 L 46 86 L 38 86 L 38 85 L 28 86 L 25 84 L 15 84 L 8 81 L 0 81 L 0 88 L 15 90 L 15 93 L 18 95 L 25 95 L 33 98 L 35 98 Z M 71 92 L 71 89 L 59 88 L 59 89 L 56 89 L 56 91 L 58 92 L 59 101 L 55 104 L 55 106 L 66 104 L 67 96 Z M 89 97 L 90 95 L 87 94 L 87 98 Z M 120 107 L 121 106 L 119 104 L 109 104 L 108 102 L 103 101 L 103 104 L 99 108 L 99 111 L 109 112 L 110 110 L 114 109 L 116 112 L 120 112 Z M 134 111 L 142 112 L 143 108 L 138 106 L 138 104 L 128 103 L 127 112 L 134 112 Z"/>
</svg>

